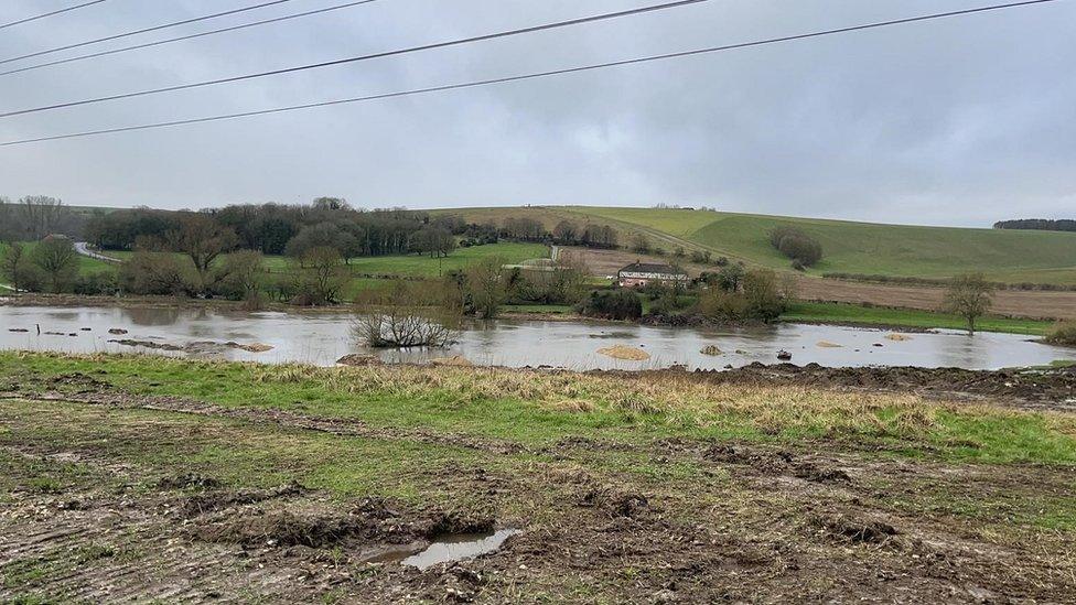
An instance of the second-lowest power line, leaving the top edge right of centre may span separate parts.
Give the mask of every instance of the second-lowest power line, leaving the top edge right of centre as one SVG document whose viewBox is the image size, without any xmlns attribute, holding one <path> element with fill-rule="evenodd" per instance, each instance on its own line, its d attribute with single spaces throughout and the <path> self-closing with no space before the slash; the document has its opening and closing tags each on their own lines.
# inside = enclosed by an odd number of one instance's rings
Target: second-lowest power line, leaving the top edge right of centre
<svg viewBox="0 0 1076 605">
<path fill-rule="evenodd" d="M 559 28 L 567 28 L 567 26 L 570 26 L 570 25 L 580 25 L 580 24 L 583 24 L 583 23 L 593 23 L 593 22 L 596 22 L 596 21 L 605 21 L 605 20 L 609 20 L 609 19 L 617 19 L 617 18 L 622 18 L 622 17 L 630 17 L 630 15 L 649 13 L 649 12 L 655 12 L 655 11 L 660 11 L 660 10 L 666 10 L 666 9 L 674 9 L 674 8 L 679 8 L 679 7 L 686 7 L 688 4 L 698 4 L 698 3 L 701 3 L 701 2 L 709 2 L 709 1 L 710 0 L 676 0 L 674 2 L 666 2 L 664 4 L 652 4 L 652 6 L 648 6 L 648 7 L 641 7 L 641 8 L 636 8 L 636 9 L 628 9 L 628 10 L 618 11 L 618 12 L 610 12 L 610 13 L 598 14 L 598 15 L 592 15 L 592 17 L 583 17 L 583 18 L 580 18 L 580 19 L 572 19 L 572 20 L 569 20 L 569 21 L 558 21 L 556 23 L 546 23 L 546 24 L 542 24 L 542 25 L 534 25 L 534 26 L 530 26 L 530 28 L 523 28 L 523 29 L 518 29 L 518 30 L 509 30 L 509 31 L 505 31 L 505 32 L 497 32 L 497 33 L 485 34 L 485 35 L 477 35 L 477 36 L 472 36 L 472 37 L 464 37 L 464 39 L 459 39 L 459 40 L 451 40 L 451 41 L 448 41 L 448 42 L 438 42 L 438 43 L 434 43 L 434 44 L 423 44 L 421 46 L 411 46 L 409 48 L 400 48 L 400 50 L 396 50 L 396 51 L 385 51 L 385 52 L 374 53 L 374 54 L 368 54 L 368 55 L 353 56 L 353 57 L 347 57 L 347 58 L 338 58 L 338 60 L 335 60 L 335 61 L 326 61 L 326 62 L 322 62 L 322 63 L 312 63 L 312 64 L 309 64 L 309 65 L 299 65 L 299 66 L 295 66 L 295 67 L 284 67 L 282 69 L 272 69 L 272 71 L 269 71 L 269 72 L 259 72 L 259 73 L 256 73 L 256 74 L 245 74 L 245 75 L 241 75 L 241 76 L 232 76 L 232 77 L 227 77 L 227 78 L 211 79 L 211 80 L 197 82 L 197 83 L 193 83 L 193 84 L 180 84 L 180 85 L 176 85 L 176 86 L 165 86 L 163 88 L 151 88 L 151 89 L 148 89 L 148 90 L 138 90 L 136 93 L 123 93 L 123 94 L 120 94 L 120 95 L 110 95 L 110 96 L 107 96 L 107 97 L 96 97 L 96 98 L 83 99 L 83 100 L 77 100 L 77 101 L 67 101 L 67 102 L 60 102 L 60 104 L 55 104 L 55 105 L 45 105 L 45 106 L 42 106 L 42 107 L 33 107 L 33 108 L 30 108 L 30 109 L 19 109 L 19 110 L 15 110 L 15 111 L 8 111 L 8 112 L 4 112 L 4 114 L 0 114 L 0 118 L 10 118 L 12 116 L 22 116 L 24 114 L 37 114 L 40 111 L 52 111 L 52 110 L 55 110 L 55 109 L 64 109 L 64 108 L 67 108 L 67 107 L 78 107 L 78 106 L 83 106 L 83 105 L 92 105 L 92 104 L 105 102 L 105 101 L 112 101 L 112 100 L 119 100 L 119 99 L 129 99 L 129 98 L 133 98 L 133 97 L 144 97 L 147 95 L 158 95 L 158 94 L 161 94 L 161 93 L 174 93 L 176 90 L 189 90 L 191 88 L 202 88 L 202 87 L 205 87 L 205 86 L 215 86 L 215 85 L 218 85 L 218 84 L 230 84 L 230 83 L 235 83 L 235 82 L 243 82 L 243 80 L 255 79 L 255 78 L 263 78 L 263 77 L 268 77 L 268 76 L 279 76 L 281 74 L 291 74 L 291 73 L 295 73 L 295 72 L 304 72 L 306 69 L 319 69 L 319 68 L 322 68 L 322 67 L 331 67 L 331 66 L 335 66 L 335 65 L 344 65 L 344 64 L 348 64 L 348 63 L 357 63 L 359 61 L 370 61 L 370 60 L 374 60 L 374 58 L 384 58 L 384 57 L 389 57 L 389 56 L 405 55 L 405 54 L 409 54 L 409 53 L 417 53 L 417 52 L 420 52 L 420 51 L 431 51 L 431 50 L 434 50 L 434 48 L 446 48 L 449 46 L 460 46 L 460 45 L 463 45 L 463 44 L 472 44 L 472 43 L 475 43 L 475 42 L 484 42 L 484 41 L 487 41 L 487 40 L 496 40 L 496 39 L 499 39 L 499 37 L 509 37 L 509 36 L 514 36 L 514 35 L 521 35 L 521 34 L 528 34 L 528 33 L 535 33 L 535 32 L 541 32 L 541 31 L 548 31 L 548 30 L 556 30 L 556 29 L 559 29 Z"/>
</svg>

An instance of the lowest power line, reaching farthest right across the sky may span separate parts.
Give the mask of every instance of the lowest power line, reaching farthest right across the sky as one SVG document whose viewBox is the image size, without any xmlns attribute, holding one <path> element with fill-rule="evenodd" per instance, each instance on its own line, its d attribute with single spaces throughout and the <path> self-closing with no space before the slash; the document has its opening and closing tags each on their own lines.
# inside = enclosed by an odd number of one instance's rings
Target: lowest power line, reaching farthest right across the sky
<svg viewBox="0 0 1076 605">
<path fill-rule="evenodd" d="M 627 65 L 638 65 L 638 64 L 650 63 L 650 62 L 655 62 L 655 61 L 664 61 L 664 60 L 670 60 L 670 58 L 681 58 L 681 57 L 687 57 L 687 56 L 704 55 L 704 54 L 719 53 L 719 52 L 724 52 L 724 51 L 734 51 L 734 50 L 740 50 L 740 48 L 750 48 L 750 47 L 753 47 L 753 46 L 764 46 L 764 45 L 767 45 L 767 44 L 778 44 L 778 43 L 783 43 L 783 42 L 793 42 L 793 41 L 797 41 L 797 40 L 808 40 L 808 39 L 813 39 L 813 37 L 821 37 L 821 36 L 827 36 L 827 35 L 836 35 L 836 34 L 850 33 L 850 32 L 857 32 L 857 31 L 863 31 L 863 30 L 872 30 L 872 29 L 886 28 L 886 26 L 892 26 L 892 25 L 903 25 L 903 24 L 916 23 L 916 22 L 921 22 L 921 21 L 932 21 L 932 20 L 937 20 L 937 19 L 946 19 L 946 18 L 951 18 L 951 17 L 960 17 L 960 15 L 967 15 L 967 14 L 973 14 L 973 13 L 981 13 L 981 12 L 988 12 L 988 11 L 998 11 L 998 10 L 1002 10 L 1002 9 L 1011 9 L 1011 8 L 1018 8 L 1018 7 L 1027 7 L 1027 6 L 1032 6 L 1032 4 L 1044 4 L 1044 3 L 1047 3 L 1047 2 L 1054 2 L 1054 1 L 1056 1 L 1056 0 L 1027 0 L 1027 1 L 1024 1 L 1024 2 L 1010 2 L 1008 4 L 992 4 L 992 6 L 988 6 L 988 7 L 979 7 L 979 8 L 966 9 L 966 10 L 959 10 L 959 11 L 933 13 L 933 14 L 925 14 L 925 15 L 921 15 L 921 17 L 910 17 L 910 18 L 905 18 L 905 19 L 895 19 L 895 20 L 891 20 L 891 21 L 879 21 L 879 22 L 874 22 L 874 23 L 865 23 L 865 24 L 862 24 L 862 25 L 851 25 L 851 26 L 848 26 L 848 28 L 838 28 L 838 29 L 832 29 L 832 30 L 822 30 L 822 31 L 804 33 L 804 34 L 786 35 L 786 36 L 781 36 L 781 37 L 771 37 L 771 39 L 766 39 L 766 40 L 756 40 L 756 41 L 752 41 L 752 42 L 741 42 L 741 43 L 738 43 L 738 44 L 727 44 L 727 45 L 723 45 L 723 46 L 710 46 L 710 47 L 706 47 L 706 48 L 696 48 L 693 51 L 682 51 L 682 52 L 677 52 L 677 53 L 666 53 L 666 54 L 660 54 L 660 55 L 649 55 L 649 56 L 643 56 L 643 57 L 636 57 L 636 58 L 627 58 L 627 60 L 622 60 L 622 61 L 612 61 L 612 62 L 606 62 L 606 63 L 595 63 L 595 64 L 591 64 L 591 65 L 582 65 L 582 66 L 577 66 L 577 67 L 566 67 L 566 68 L 562 68 L 562 69 L 551 69 L 551 71 L 547 71 L 547 72 L 535 72 L 535 73 L 530 73 L 530 74 L 523 74 L 523 75 L 516 75 L 516 76 L 505 76 L 505 77 L 499 77 L 499 78 L 491 78 L 491 79 L 483 79 L 483 80 L 475 80 L 475 82 L 467 82 L 467 83 L 460 83 L 460 84 L 446 84 L 446 85 L 442 85 L 442 86 L 431 86 L 431 87 L 427 87 L 427 88 L 413 88 L 413 89 L 410 89 L 410 90 L 400 90 L 400 91 L 396 91 L 396 93 L 384 93 L 384 94 L 380 94 L 380 95 L 368 95 L 368 96 L 364 96 L 364 97 L 352 97 L 352 98 L 346 98 L 346 99 L 334 99 L 334 100 L 327 100 L 327 101 L 311 102 L 311 104 L 305 104 L 305 105 L 292 105 L 292 106 L 288 106 L 288 107 L 276 107 L 276 108 L 272 108 L 272 109 L 260 109 L 260 110 L 256 110 L 256 111 L 244 111 L 244 112 L 240 112 L 240 114 L 224 114 L 224 115 L 219 115 L 219 116 L 208 116 L 208 117 L 202 117 L 202 118 L 190 118 L 190 119 L 184 119 L 184 120 L 172 120 L 172 121 L 147 123 L 147 125 L 139 125 L 139 126 L 126 126 L 126 127 L 120 127 L 120 128 L 108 128 L 108 129 L 101 129 L 101 130 L 89 130 L 89 131 L 84 131 L 84 132 L 74 132 L 74 133 L 69 133 L 69 134 L 56 134 L 56 136 L 52 136 L 52 137 L 40 137 L 40 138 L 36 138 L 36 139 L 22 139 L 22 140 L 18 140 L 18 141 L 8 141 L 8 142 L 0 143 L 0 147 L 19 145 L 19 144 L 26 144 L 26 143 L 39 143 L 39 142 L 44 142 L 44 141 L 57 141 L 57 140 L 62 140 L 62 139 L 75 139 L 75 138 L 82 138 L 82 137 L 95 137 L 95 136 L 99 136 L 99 134 L 111 134 L 111 133 L 117 133 L 117 132 L 131 132 L 131 131 L 136 131 L 136 130 L 150 130 L 150 129 L 157 129 L 157 128 L 169 128 L 169 127 L 175 127 L 175 126 L 186 126 L 186 125 L 192 125 L 192 123 L 202 123 L 202 122 L 212 122 L 212 121 L 220 121 L 220 120 L 230 120 L 230 119 L 237 119 L 237 118 L 248 118 L 248 117 L 252 117 L 252 116 L 266 116 L 266 115 L 270 115 L 270 114 L 281 114 L 281 112 L 284 112 L 284 111 L 297 111 L 297 110 L 300 110 L 300 109 L 314 109 L 314 108 L 319 108 L 319 107 L 330 107 L 330 106 L 334 106 L 334 105 L 346 105 L 346 104 L 353 104 L 353 102 L 364 102 L 364 101 L 373 101 L 373 100 L 381 100 L 381 99 L 391 99 L 391 98 L 397 98 L 397 97 L 407 97 L 407 96 L 411 96 L 411 95 L 424 95 L 424 94 L 431 94 L 431 93 L 443 93 L 443 91 L 448 91 L 448 90 L 460 90 L 460 89 L 464 89 L 464 88 L 477 88 L 480 86 L 489 86 L 489 85 L 495 85 L 495 84 L 506 84 L 506 83 L 521 82 L 521 80 L 528 80 L 528 79 L 537 79 L 537 78 L 542 78 L 542 77 L 558 76 L 558 75 L 566 75 L 566 74 L 578 74 L 578 73 L 582 73 L 582 72 L 592 72 L 592 71 L 604 69 L 604 68 L 609 68 L 609 67 L 622 67 L 622 66 L 627 66 Z"/>
</svg>

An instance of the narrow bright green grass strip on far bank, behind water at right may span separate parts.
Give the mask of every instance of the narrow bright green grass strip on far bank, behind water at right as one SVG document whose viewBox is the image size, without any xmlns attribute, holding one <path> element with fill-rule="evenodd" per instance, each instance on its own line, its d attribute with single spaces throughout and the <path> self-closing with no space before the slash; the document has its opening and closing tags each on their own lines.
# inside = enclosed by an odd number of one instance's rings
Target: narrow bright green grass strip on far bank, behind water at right
<svg viewBox="0 0 1076 605">
<path fill-rule="evenodd" d="M 880 327 L 965 329 L 966 322 L 955 315 L 914 309 L 887 309 L 846 303 L 796 302 L 781 316 L 785 322 L 856 324 Z M 978 329 L 1042 336 L 1053 322 L 1012 317 L 982 317 Z"/>
</svg>

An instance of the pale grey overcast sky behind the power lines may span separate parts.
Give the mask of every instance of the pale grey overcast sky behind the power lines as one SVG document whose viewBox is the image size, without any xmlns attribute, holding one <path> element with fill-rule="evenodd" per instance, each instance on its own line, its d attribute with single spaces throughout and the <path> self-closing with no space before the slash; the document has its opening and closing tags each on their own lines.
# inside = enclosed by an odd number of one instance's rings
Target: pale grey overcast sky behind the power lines
<svg viewBox="0 0 1076 605">
<path fill-rule="evenodd" d="M 108 0 L 0 30 L 0 58 L 258 1 Z M 291 0 L 93 50 L 343 1 Z M 0 76 L 0 111 L 659 1 L 378 0 Z M 0 141 L 546 71 L 993 1 L 711 0 L 466 47 L 2 118 Z M 0 22 L 74 3 L 3 0 Z M 7 147 L 0 148 L 0 195 L 166 208 L 319 195 L 412 208 L 666 203 L 968 226 L 1073 218 L 1074 30 L 1076 1 L 1061 0 L 478 89 Z"/>
</svg>

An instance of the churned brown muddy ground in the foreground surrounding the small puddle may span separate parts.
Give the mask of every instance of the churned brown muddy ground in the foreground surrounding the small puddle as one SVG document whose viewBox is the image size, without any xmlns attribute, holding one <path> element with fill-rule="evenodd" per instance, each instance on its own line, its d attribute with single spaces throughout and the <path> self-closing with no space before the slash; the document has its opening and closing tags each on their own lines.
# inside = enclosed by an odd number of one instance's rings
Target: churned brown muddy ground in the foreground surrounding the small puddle
<svg viewBox="0 0 1076 605">
<path fill-rule="evenodd" d="M 625 444 L 598 432 L 536 447 L 139 396 L 85 376 L 0 387 L 4 602 L 1076 602 L 1076 534 L 1054 522 L 1076 504 L 1072 467 L 839 441 Z M 232 457 L 248 450 L 256 464 Z M 308 452 L 372 476 L 409 452 L 421 463 L 341 491 L 306 472 Z M 396 484 L 407 488 L 378 494 Z M 424 571 L 385 557 L 492 528 L 523 532 Z"/>
</svg>

